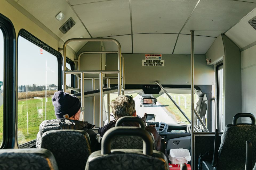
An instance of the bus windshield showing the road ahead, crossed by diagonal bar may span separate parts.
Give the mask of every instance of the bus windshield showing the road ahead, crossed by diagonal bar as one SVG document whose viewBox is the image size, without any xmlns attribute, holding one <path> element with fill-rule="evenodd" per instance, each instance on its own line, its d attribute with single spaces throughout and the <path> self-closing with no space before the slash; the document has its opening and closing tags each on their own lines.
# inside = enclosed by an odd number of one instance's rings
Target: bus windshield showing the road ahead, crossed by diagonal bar
<svg viewBox="0 0 256 170">
<path fill-rule="evenodd" d="M 173 100 L 179 105 L 182 111 L 191 119 L 191 94 L 172 94 L 169 93 Z M 145 113 L 155 114 L 155 122 L 165 122 L 169 124 L 189 124 L 187 119 L 178 110 L 178 108 L 173 104 L 169 97 L 163 94 L 126 94 L 132 95 L 135 101 L 135 109 L 137 115 L 143 117 Z M 110 101 L 115 99 L 117 94 L 110 94 Z M 143 98 L 156 98 L 156 104 L 143 104 Z M 105 101 L 105 113 L 107 113 L 107 95 L 104 96 Z M 194 103 L 198 101 L 198 95 L 194 94 Z M 110 108 L 110 113 L 112 110 Z"/>
</svg>

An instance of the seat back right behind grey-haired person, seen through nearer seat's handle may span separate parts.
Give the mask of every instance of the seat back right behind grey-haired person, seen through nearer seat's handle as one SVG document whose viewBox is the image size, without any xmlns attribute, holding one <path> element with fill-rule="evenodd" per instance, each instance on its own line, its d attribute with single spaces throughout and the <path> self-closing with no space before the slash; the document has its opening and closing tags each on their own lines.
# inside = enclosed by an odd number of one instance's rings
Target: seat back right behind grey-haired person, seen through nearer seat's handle
<svg viewBox="0 0 256 170">
<path fill-rule="evenodd" d="M 137 122 L 142 129 L 145 129 L 145 124 L 143 120 L 139 117 L 124 116 L 117 120 L 115 127 L 122 126 L 123 122 Z M 147 132 L 149 133 L 149 132 Z M 152 133 L 151 135 L 153 141 L 153 149 L 155 149 L 155 139 Z M 112 149 L 143 149 L 143 141 L 139 136 L 115 136 L 111 140 Z"/>
</svg>

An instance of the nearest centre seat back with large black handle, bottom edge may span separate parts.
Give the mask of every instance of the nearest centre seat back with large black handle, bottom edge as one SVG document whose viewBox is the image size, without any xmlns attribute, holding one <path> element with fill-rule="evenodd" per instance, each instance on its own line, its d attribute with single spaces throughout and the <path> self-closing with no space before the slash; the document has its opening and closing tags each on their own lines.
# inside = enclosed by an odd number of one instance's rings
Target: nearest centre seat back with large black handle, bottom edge
<svg viewBox="0 0 256 170">
<path fill-rule="evenodd" d="M 134 135 L 143 139 L 143 150 L 111 150 L 111 139 L 116 135 Z M 86 163 L 86 170 L 96 169 L 169 169 L 166 156 L 160 151 L 153 151 L 151 136 L 145 129 L 138 127 L 114 127 L 102 137 L 101 151 L 93 152 Z"/>
</svg>

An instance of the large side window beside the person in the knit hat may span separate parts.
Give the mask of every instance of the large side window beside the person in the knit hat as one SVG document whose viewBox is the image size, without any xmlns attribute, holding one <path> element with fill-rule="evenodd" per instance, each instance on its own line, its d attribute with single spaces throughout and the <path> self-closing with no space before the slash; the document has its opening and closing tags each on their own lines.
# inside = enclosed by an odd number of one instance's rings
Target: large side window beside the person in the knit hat
<svg viewBox="0 0 256 170">
<path fill-rule="evenodd" d="M 54 119 L 51 98 L 58 90 L 57 57 L 18 37 L 18 143 L 37 137 L 39 125 Z"/>
</svg>

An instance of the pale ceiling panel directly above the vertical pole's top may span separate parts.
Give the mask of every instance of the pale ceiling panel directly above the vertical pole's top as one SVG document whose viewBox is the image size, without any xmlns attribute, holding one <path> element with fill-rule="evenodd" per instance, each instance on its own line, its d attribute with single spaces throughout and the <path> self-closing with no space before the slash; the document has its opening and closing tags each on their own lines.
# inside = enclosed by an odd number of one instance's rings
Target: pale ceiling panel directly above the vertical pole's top
<svg viewBox="0 0 256 170">
<path fill-rule="evenodd" d="M 181 33 L 217 37 L 256 7 L 256 3 L 230 0 L 200 1 Z"/>
</svg>

